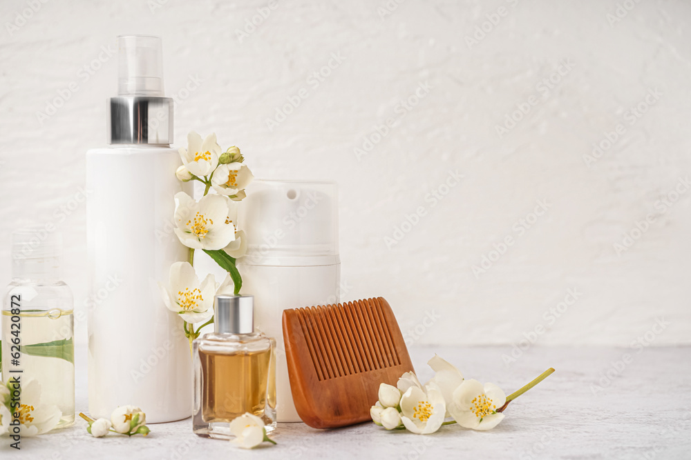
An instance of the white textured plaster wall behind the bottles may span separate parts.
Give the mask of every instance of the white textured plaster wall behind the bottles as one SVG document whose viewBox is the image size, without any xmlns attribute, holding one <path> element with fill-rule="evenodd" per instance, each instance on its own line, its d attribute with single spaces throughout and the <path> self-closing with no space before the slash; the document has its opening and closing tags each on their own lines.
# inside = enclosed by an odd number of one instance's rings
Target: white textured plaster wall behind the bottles
<svg viewBox="0 0 691 460">
<path fill-rule="evenodd" d="M 54 222 L 83 308 L 84 152 L 104 144 L 104 101 L 115 92 L 116 59 L 104 50 L 117 34 L 159 34 L 167 92 L 179 100 L 177 145 L 189 130 L 215 131 L 258 177 L 337 180 L 344 298 L 383 295 L 404 330 L 422 332 L 419 343 L 518 343 L 526 333 L 540 344 L 627 346 L 656 318 L 669 324 L 644 341 L 690 343 L 691 193 L 679 182 L 691 175 L 690 3 L 274 6 L 0 3 L 2 283 L 12 229 Z M 260 21 L 258 8 L 270 14 Z M 240 37 L 253 17 L 255 30 Z M 414 107 L 401 104 L 416 91 Z M 299 107 L 269 129 L 296 97 Z M 55 114 L 50 103 L 61 106 Z M 521 106 L 527 114 L 498 132 Z M 451 172 L 462 179 L 446 188 Z M 540 202 L 547 210 L 532 215 Z M 405 224 L 420 207 L 417 224 Z M 401 227 L 409 231 L 395 234 Z M 618 254 L 614 244 L 632 231 L 638 239 Z M 496 257 L 507 237 L 513 244 Z M 476 276 L 484 255 L 497 260 Z M 569 290 L 575 303 L 550 314 Z"/>
</svg>

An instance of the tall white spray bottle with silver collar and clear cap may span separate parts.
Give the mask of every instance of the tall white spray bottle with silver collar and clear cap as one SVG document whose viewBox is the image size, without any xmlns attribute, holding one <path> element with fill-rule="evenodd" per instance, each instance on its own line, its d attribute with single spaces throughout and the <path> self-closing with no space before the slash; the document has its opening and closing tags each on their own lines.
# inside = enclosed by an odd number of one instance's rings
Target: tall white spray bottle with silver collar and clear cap
<svg viewBox="0 0 691 460">
<path fill-rule="evenodd" d="M 164 97 L 159 37 L 118 37 L 118 95 L 108 148 L 86 153 L 88 399 L 92 417 L 132 404 L 152 423 L 191 414 L 191 359 L 180 318 L 157 281 L 187 251 L 173 233 L 173 100 Z"/>
</svg>

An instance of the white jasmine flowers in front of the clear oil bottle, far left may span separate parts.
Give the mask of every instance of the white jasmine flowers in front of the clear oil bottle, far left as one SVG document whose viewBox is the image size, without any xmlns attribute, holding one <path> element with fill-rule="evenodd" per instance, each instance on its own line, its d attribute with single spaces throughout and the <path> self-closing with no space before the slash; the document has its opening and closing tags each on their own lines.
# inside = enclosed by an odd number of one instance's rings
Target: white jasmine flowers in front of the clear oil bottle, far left
<svg viewBox="0 0 691 460">
<path fill-rule="evenodd" d="M 13 406 L 21 394 L 19 406 Z M 12 419 L 19 419 L 19 433 L 21 436 L 32 437 L 53 430 L 62 417 L 62 412 L 53 404 L 41 401 L 41 384 L 30 379 L 23 383 L 21 389 L 14 388 L 12 383 L 0 381 L 0 434 L 10 431 Z"/>
</svg>

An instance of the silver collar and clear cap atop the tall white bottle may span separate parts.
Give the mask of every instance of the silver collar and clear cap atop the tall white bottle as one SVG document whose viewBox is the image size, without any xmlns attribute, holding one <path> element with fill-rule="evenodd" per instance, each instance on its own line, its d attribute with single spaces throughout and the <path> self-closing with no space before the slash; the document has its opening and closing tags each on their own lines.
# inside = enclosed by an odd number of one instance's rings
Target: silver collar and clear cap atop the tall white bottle
<svg viewBox="0 0 691 460">
<path fill-rule="evenodd" d="M 108 99 L 108 143 L 170 145 L 173 99 L 164 97 L 160 37 L 117 37 L 117 97 Z"/>
</svg>

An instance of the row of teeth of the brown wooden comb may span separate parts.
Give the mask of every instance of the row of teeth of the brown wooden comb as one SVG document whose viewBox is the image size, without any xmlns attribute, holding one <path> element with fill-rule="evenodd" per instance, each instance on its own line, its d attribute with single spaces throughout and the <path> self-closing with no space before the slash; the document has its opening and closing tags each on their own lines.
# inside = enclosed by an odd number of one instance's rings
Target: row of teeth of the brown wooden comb
<svg viewBox="0 0 691 460">
<path fill-rule="evenodd" d="M 320 381 L 401 364 L 379 299 L 295 311 Z"/>
</svg>

